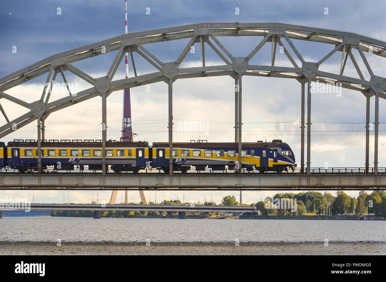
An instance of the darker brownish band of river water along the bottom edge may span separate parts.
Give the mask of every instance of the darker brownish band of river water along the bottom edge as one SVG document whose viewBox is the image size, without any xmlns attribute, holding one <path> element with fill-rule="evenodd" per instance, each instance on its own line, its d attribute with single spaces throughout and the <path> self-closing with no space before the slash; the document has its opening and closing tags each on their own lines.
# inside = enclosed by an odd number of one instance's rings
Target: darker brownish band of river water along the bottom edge
<svg viewBox="0 0 386 282">
<path fill-rule="evenodd" d="M 0 242 L 0 255 L 385 255 L 386 242 Z"/>
</svg>

